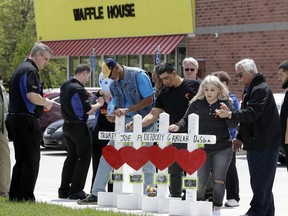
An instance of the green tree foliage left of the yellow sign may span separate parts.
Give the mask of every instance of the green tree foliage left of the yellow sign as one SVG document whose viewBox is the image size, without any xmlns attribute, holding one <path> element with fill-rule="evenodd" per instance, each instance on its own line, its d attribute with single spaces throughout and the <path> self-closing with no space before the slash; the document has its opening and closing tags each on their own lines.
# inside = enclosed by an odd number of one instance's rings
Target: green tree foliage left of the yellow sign
<svg viewBox="0 0 288 216">
<path fill-rule="evenodd" d="M 0 68 L 4 85 L 35 38 L 33 0 L 0 0 Z"/>
</svg>

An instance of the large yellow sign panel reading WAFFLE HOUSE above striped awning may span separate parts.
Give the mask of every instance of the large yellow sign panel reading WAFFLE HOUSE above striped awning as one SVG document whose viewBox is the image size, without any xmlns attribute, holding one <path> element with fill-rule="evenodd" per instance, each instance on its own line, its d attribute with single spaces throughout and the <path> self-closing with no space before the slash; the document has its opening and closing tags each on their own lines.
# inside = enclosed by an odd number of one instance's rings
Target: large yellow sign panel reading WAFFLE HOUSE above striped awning
<svg viewBox="0 0 288 216">
<path fill-rule="evenodd" d="M 41 41 L 188 34 L 194 0 L 34 0 Z"/>
</svg>

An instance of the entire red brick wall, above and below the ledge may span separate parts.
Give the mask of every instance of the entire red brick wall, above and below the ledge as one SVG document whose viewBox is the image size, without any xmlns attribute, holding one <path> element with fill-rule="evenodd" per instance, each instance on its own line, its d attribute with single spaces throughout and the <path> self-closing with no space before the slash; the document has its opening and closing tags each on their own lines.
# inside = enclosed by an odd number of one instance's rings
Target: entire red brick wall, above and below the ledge
<svg viewBox="0 0 288 216">
<path fill-rule="evenodd" d="M 212 32 L 197 34 L 197 28 L 286 22 L 286 5 L 285 0 L 196 0 L 196 34 L 187 39 L 188 56 L 206 60 L 206 75 L 227 71 L 230 90 L 238 97 L 243 86 L 235 77 L 234 65 L 243 58 L 252 58 L 272 91 L 281 92 L 278 65 L 288 59 L 288 29 L 226 32 L 214 38 Z"/>
</svg>

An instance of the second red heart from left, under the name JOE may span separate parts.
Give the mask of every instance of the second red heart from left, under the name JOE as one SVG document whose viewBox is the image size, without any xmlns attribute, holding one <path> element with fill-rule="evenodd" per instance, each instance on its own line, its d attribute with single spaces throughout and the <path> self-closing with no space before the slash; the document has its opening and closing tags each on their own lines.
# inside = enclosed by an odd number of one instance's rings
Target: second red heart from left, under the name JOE
<svg viewBox="0 0 288 216">
<path fill-rule="evenodd" d="M 122 160 L 130 167 L 134 170 L 139 170 L 149 161 L 147 151 L 147 146 L 142 146 L 139 149 L 135 149 L 132 146 L 125 146 L 120 149 L 120 155 Z"/>
</svg>

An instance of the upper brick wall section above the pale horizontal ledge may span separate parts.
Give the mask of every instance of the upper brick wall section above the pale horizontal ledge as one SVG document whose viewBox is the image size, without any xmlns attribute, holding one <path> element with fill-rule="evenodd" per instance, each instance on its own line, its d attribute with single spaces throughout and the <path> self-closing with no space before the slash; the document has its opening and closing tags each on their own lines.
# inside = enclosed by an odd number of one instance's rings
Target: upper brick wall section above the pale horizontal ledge
<svg viewBox="0 0 288 216">
<path fill-rule="evenodd" d="M 286 0 L 195 0 L 196 27 L 288 21 Z"/>
</svg>

